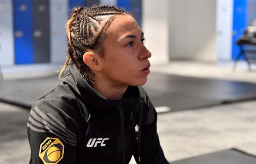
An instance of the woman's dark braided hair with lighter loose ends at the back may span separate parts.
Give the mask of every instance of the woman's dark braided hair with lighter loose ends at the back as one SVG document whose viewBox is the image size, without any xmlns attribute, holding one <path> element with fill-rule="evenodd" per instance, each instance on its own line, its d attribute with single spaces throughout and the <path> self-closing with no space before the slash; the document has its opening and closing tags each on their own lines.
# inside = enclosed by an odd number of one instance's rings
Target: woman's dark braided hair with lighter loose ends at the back
<svg viewBox="0 0 256 164">
<path fill-rule="evenodd" d="M 102 40 L 107 37 L 107 28 L 115 19 L 115 16 L 130 13 L 115 6 L 101 5 L 90 8 L 74 8 L 71 18 L 66 23 L 68 36 L 68 55 L 66 62 L 59 71 L 59 79 L 69 59 L 75 64 L 79 72 L 89 84 L 94 81 L 94 75 L 89 67 L 83 62 L 83 54 L 86 50 L 98 50 L 104 56 L 103 48 L 100 46 Z"/>
</svg>

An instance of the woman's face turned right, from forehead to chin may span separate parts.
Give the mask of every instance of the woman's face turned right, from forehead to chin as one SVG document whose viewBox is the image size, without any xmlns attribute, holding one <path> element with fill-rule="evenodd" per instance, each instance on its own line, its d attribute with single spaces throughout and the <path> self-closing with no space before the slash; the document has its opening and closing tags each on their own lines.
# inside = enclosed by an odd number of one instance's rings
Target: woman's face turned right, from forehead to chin
<svg viewBox="0 0 256 164">
<path fill-rule="evenodd" d="M 150 73 L 151 52 L 144 46 L 144 35 L 134 18 L 116 16 L 102 42 L 102 73 L 115 85 L 140 86 Z"/>
</svg>

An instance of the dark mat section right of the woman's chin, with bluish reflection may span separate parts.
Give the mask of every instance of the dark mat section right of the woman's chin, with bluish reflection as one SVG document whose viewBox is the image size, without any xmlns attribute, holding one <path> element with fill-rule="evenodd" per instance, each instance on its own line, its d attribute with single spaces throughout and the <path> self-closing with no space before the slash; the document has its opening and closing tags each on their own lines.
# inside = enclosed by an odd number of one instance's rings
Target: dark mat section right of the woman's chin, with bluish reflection
<svg viewBox="0 0 256 164">
<path fill-rule="evenodd" d="M 155 107 L 171 110 L 256 100 L 256 84 L 161 73 L 151 73 L 144 89 Z"/>
</svg>

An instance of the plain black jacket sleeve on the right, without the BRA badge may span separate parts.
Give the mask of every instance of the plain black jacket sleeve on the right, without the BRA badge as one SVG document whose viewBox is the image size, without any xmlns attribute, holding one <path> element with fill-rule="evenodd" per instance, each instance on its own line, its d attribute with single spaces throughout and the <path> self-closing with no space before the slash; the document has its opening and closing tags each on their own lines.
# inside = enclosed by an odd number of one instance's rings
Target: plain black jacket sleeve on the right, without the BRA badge
<svg viewBox="0 0 256 164">
<path fill-rule="evenodd" d="M 144 101 L 144 114 L 141 127 L 141 163 L 138 164 L 169 164 L 164 157 L 157 133 L 157 113 L 146 92 L 140 88 Z"/>
</svg>

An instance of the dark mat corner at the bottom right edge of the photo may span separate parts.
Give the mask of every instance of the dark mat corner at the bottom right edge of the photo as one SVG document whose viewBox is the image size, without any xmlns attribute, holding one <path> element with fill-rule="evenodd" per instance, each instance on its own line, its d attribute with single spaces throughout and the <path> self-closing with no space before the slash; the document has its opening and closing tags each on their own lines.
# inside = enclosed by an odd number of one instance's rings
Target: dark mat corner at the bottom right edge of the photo
<svg viewBox="0 0 256 164">
<path fill-rule="evenodd" d="M 170 164 L 256 164 L 256 157 L 237 149 L 228 149 L 174 161 Z"/>
</svg>

